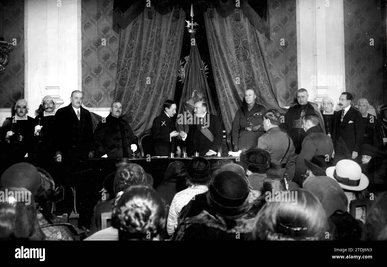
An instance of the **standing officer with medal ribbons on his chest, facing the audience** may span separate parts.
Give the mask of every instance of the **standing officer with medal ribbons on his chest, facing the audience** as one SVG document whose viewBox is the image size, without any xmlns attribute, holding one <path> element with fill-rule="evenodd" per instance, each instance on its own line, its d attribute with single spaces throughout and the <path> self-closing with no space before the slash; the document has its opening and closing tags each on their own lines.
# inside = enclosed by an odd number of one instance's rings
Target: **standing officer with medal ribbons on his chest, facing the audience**
<svg viewBox="0 0 387 267">
<path fill-rule="evenodd" d="M 253 90 L 246 90 L 246 105 L 235 113 L 232 129 L 234 151 L 257 147 L 258 138 L 264 134 L 262 124 L 266 108 L 255 103 L 256 98 Z"/>
</svg>

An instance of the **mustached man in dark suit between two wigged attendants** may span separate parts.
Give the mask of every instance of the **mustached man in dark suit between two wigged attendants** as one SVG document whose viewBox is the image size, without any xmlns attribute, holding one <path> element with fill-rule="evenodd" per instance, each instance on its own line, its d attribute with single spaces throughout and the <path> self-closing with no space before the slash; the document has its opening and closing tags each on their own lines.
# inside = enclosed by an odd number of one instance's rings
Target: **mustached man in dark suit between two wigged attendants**
<svg viewBox="0 0 387 267">
<path fill-rule="evenodd" d="M 342 93 L 339 98 L 342 110 L 334 117 L 332 141 L 335 165 L 342 159 L 356 159 L 364 140 L 363 117 L 351 107 L 352 100 L 352 94 Z"/>
</svg>

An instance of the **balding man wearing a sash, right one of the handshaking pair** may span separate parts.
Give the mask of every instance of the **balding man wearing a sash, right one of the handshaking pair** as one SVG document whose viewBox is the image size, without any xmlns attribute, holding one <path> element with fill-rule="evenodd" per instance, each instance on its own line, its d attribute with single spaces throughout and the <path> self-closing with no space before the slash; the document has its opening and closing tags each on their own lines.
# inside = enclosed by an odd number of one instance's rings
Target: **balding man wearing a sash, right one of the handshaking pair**
<svg viewBox="0 0 387 267">
<path fill-rule="evenodd" d="M 223 131 L 219 118 L 207 113 L 207 103 L 198 101 L 194 105 L 194 122 L 188 132 L 189 155 L 216 155 L 222 145 Z"/>
</svg>

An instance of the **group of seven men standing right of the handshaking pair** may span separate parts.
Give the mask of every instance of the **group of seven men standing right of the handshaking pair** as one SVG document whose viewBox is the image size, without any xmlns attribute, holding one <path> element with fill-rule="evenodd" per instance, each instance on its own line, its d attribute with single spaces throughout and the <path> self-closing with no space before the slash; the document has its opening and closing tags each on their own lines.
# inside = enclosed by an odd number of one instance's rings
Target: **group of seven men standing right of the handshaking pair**
<svg viewBox="0 0 387 267">
<path fill-rule="evenodd" d="M 358 101 L 357 111 L 351 105 L 353 96 L 344 92 L 339 97 L 341 111 L 336 112 L 332 99 L 325 98 L 320 111 L 308 96 L 307 90 L 298 90 L 297 103 L 281 116 L 279 111 L 257 104 L 254 91 L 247 90 L 246 104 L 233 121 L 234 150 L 257 147 L 268 151 L 283 168 L 284 177 L 295 181 L 305 175 L 304 160 L 315 155 L 324 155 L 327 160 L 334 156 L 333 163 L 337 163 L 341 159 L 356 160 L 363 143 L 384 150 L 387 139 L 376 138 L 376 118 L 368 114 L 366 99 Z"/>
</svg>

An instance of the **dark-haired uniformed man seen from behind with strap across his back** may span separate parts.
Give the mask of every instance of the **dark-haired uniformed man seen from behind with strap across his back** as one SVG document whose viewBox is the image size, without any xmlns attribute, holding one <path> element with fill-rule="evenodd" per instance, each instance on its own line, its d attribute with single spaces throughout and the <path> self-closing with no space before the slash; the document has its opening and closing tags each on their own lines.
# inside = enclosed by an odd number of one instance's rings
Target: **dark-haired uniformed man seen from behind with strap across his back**
<svg viewBox="0 0 387 267">
<path fill-rule="evenodd" d="M 258 139 L 257 148 L 269 152 L 271 160 L 278 163 L 284 178 L 291 181 L 296 169 L 296 153 L 293 141 L 279 129 L 281 113 L 276 109 L 266 111 L 263 126 L 266 131 Z"/>
</svg>

